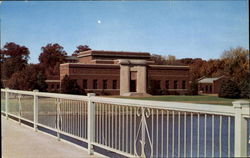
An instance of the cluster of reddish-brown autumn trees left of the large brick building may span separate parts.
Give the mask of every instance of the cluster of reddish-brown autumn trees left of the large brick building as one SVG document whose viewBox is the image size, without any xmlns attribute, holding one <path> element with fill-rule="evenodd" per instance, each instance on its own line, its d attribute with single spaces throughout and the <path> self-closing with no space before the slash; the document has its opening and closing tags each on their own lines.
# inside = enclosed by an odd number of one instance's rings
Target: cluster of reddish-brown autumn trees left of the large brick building
<svg viewBox="0 0 250 158">
<path fill-rule="evenodd" d="M 72 56 L 91 50 L 87 45 L 79 45 Z M 0 50 L 1 87 L 17 90 L 47 91 L 45 80 L 60 75 L 60 64 L 66 61 L 67 52 L 58 43 L 41 47 L 38 64 L 29 64 L 30 51 L 14 42 L 6 43 Z"/>
</svg>

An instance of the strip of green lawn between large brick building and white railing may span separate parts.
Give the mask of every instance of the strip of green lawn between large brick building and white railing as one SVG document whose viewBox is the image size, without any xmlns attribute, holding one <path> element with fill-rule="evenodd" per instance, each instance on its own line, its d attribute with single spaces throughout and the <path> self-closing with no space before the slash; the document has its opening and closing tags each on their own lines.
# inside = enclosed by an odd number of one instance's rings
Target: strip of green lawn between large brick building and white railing
<svg viewBox="0 0 250 158">
<path fill-rule="evenodd" d="M 197 96 L 163 95 L 163 96 L 150 96 L 150 97 L 119 97 L 119 98 L 156 100 L 156 101 L 174 101 L 174 102 L 200 103 L 200 104 L 219 104 L 219 105 L 232 105 L 233 101 L 240 100 L 240 99 L 219 98 L 213 95 L 197 95 Z"/>
</svg>

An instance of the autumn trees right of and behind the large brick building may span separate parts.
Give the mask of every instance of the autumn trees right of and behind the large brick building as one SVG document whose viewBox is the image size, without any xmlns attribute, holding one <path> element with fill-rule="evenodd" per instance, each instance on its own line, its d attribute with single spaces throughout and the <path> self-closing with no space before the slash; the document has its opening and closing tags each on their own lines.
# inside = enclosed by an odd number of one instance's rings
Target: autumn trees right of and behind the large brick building
<svg viewBox="0 0 250 158">
<path fill-rule="evenodd" d="M 221 84 L 219 96 L 228 98 L 250 98 L 249 50 L 237 47 L 222 52 L 219 59 L 176 59 L 175 56 L 154 54 L 153 60 L 160 65 L 188 65 L 190 67 L 190 94 L 198 94 L 197 80 L 205 77 L 227 76 Z"/>
</svg>

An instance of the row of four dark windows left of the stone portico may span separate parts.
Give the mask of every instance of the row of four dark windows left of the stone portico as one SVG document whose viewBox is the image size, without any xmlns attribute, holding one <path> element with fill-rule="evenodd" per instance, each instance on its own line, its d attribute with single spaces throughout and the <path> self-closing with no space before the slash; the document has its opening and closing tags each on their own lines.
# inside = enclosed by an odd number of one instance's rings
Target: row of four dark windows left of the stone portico
<svg viewBox="0 0 250 158">
<path fill-rule="evenodd" d="M 87 79 L 83 80 L 82 87 L 83 87 L 83 89 L 91 89 L 90 87 L 88 87 L 88 80 Z M 93 80 L 92 88 L 97 89 L 97 87 L 98 87 L 98 82 L 95 79 L 95 80 Z M 102 80 L 102 89 L 108 89 L 108 80 Z M 117 89 L 117 80 L 112 80 L 112 89 Z"/>
</svg>

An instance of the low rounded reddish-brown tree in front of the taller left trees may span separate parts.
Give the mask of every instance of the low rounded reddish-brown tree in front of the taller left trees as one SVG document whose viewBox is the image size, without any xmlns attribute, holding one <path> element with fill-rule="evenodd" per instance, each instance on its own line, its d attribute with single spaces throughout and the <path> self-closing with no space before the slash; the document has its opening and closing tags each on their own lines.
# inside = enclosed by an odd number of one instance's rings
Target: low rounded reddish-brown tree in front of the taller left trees
<svg viewBox="0 0 250 158">
<path fill-rule="evenodd" d="M 17 90 L 46 91 L 47 84 L 39 65 L 27 65 L 22 71 L 15 72 L 7 81 L 7 87 Z"/>
</svg>

